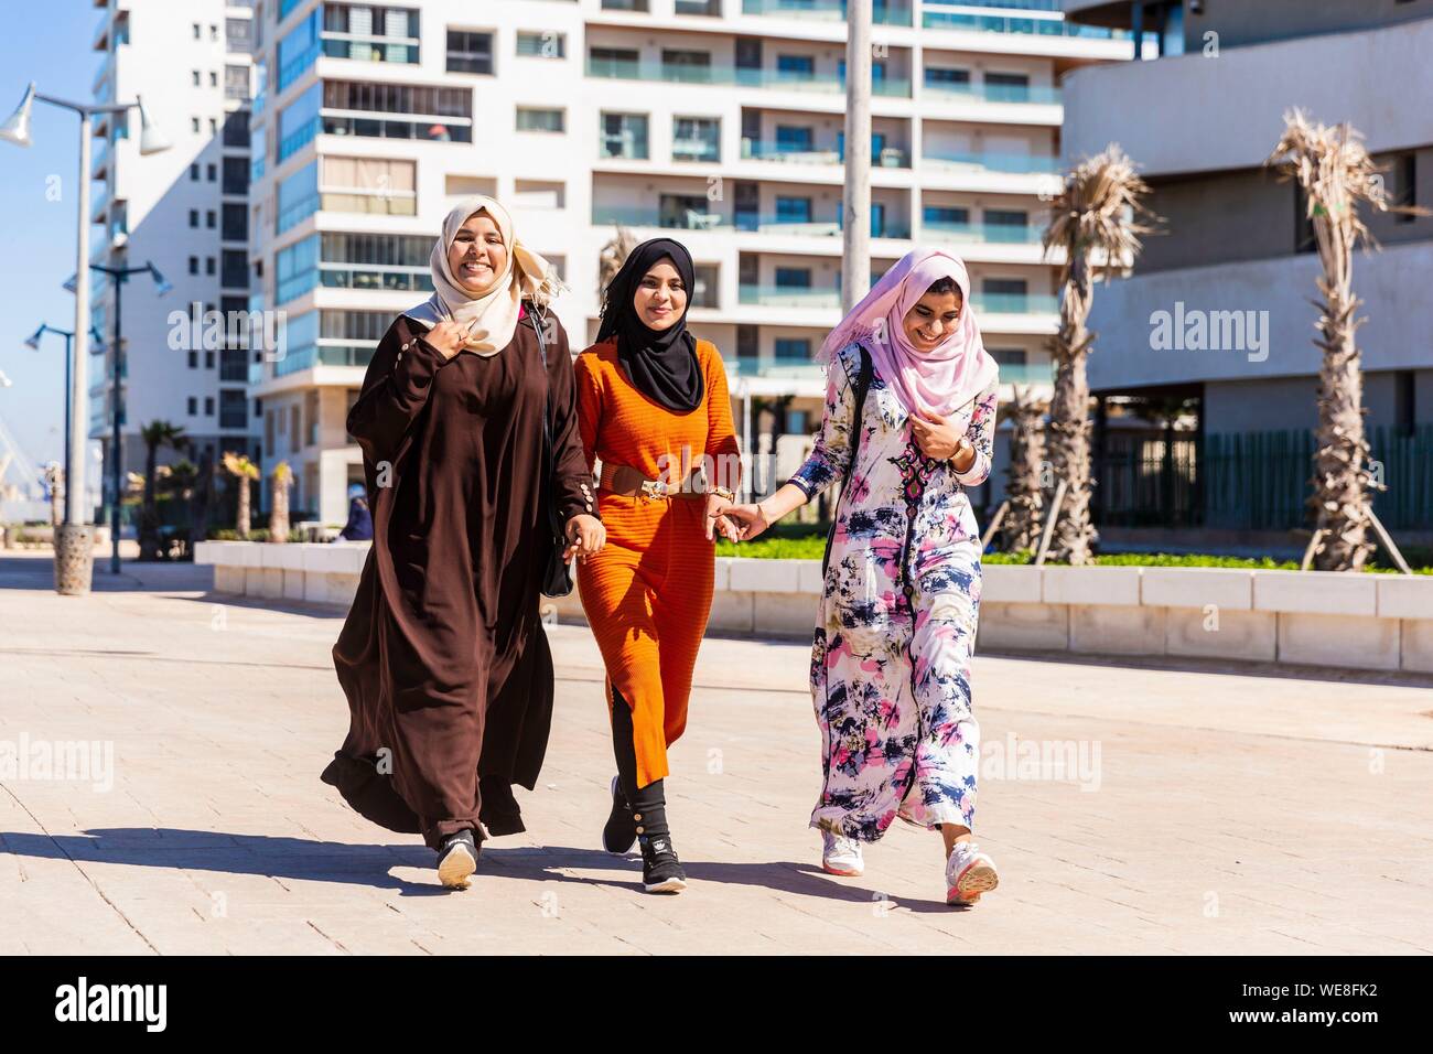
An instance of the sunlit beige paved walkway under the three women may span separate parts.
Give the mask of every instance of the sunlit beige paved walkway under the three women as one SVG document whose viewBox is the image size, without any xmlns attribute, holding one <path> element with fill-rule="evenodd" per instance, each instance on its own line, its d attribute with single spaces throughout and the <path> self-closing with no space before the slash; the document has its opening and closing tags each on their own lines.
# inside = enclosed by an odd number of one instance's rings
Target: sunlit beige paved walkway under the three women
<svg viewBox="0 0 1433 1054">
<path fill-rule="evenodd" d="M 600 665 L 557 627 L 530 830 L 449 893 L 318 782 L 347 727 L 340 618 L 209 574 L 126 565 L 76 599 L 47 555 L 0 555 L 0 955 L 1433 952 L 1430 680 L 982 655 L 1002 883 L 957 912 L 926 832 L 897 825 L 864 878 L 820 870 L 807 650 L 711 640 L 669 780 L 692 885 L 658 898 L 598 843 Z M 89 780 L 36 771 L 36 744 L 95 740 Z M 1022 753 L 1062 743 L 1065 773 Z"/>
</svg>

